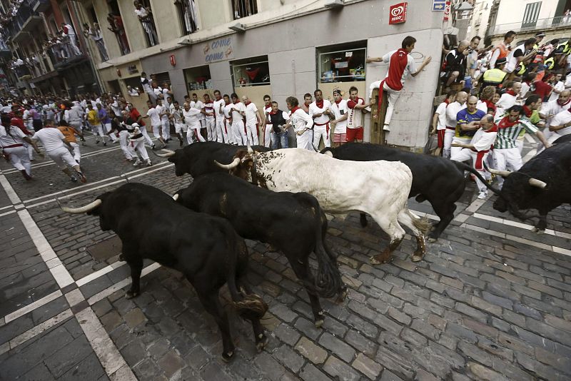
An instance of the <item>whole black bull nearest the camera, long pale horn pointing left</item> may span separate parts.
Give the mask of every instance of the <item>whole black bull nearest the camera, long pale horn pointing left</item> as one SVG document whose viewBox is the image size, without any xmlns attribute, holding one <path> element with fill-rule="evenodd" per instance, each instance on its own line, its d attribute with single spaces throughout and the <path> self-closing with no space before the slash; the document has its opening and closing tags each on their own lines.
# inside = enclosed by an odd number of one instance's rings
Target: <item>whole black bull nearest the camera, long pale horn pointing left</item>
<svg viewBox="0 0 571 381">
<path fill-rule="evenodd" d="M 128 183 L 103 193 L 85 207 L 63 209 L 98 215 L 101 229 L 113 230 L 121 238 L 122 255 L 133 280 L 126 298 L 140 292 L 145 258 L 181 271 L 205 310 L 216 320 L 222 335 L 222 356 L 229 360 L 235 347 L 228 316 L 218 298 L 220 288 L 227 283 L 233 307 L 252 322 L 258 350 L 266 344 L 260 318 L 268 306 L 244 282 L 248 248 L 227 220 L 195 213 L 157 188 L 140 183 Z"/>
</svg>

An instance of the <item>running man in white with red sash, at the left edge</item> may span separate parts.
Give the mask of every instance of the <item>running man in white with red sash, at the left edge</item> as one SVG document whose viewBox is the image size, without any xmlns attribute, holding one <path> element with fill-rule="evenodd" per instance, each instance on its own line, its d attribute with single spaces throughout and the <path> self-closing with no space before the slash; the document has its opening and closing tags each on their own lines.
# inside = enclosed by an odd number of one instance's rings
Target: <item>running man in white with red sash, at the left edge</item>
<svg viewBox="0 0 571 381">
<path fill-rule="evenodd" d="M 2 155 L 6 161 L 10 161 L 12 166 L 16 168 L 26 181 L 31 180 L 31 163 L 30 156 L 24 142 L 29 146 L 33 146 L 36 153 L 42 156 L 38 146 L 34 141 L 26 136 L 17 126 L 10 126 L 10 117 L 3 115 L 1 118 L 2 125 L 0 126 L 0 147 L 2 148 Z"/>
</svg>

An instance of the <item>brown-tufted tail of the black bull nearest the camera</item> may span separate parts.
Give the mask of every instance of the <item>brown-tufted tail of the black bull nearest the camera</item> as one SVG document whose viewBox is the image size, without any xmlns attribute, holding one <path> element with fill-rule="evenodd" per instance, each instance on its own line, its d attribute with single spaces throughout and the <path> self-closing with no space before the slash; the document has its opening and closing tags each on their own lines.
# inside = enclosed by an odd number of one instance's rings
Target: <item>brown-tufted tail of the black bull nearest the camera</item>
<svg viewBox="0 0 571 381">
<path fill-rule="evenodd" d="M 241 238 L 238 239 L 236 246 L 238 251 L 236 267 L 231 269 L 227 280 L 232 297 L 231 305 L 243 319 L 260 320 L 268 310 L 268 305 L 260 295 L 252 293 L 248 286 L 243 284 L 248 271 L 248 248 Z M 237 285 L 240 285 L 240 290 Z"/>
</svg>

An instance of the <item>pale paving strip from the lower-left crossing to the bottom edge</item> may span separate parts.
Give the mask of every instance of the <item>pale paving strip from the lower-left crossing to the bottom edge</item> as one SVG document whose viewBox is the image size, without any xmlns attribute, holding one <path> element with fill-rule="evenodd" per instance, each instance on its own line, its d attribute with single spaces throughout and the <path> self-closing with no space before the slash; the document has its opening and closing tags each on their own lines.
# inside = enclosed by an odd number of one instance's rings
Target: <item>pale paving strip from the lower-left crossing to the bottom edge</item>
<svg viewBox="0 0 571 381">
<path fill-rule="evenodd" d="M 133 371 L 128 367 L 125 359 L 123 359 L 123 356 L 121 356 L 121 353 L 117 350 L 105 327 L 101 325 L 94 310 L 92 310 L 91 307 L 81 310 L 76 314 L 76 319 L 79 325 L 81 325 L 81 329 L 84 330 L 87 340 L 89 340 L 89 344 L 93 347 L 101 365 L 105 368 L 108 377 L 111 378 L 111 380 L 136 381 L 137 379 Z M 120 372 L 120 374 L 118 372 Z"/>
</svg>

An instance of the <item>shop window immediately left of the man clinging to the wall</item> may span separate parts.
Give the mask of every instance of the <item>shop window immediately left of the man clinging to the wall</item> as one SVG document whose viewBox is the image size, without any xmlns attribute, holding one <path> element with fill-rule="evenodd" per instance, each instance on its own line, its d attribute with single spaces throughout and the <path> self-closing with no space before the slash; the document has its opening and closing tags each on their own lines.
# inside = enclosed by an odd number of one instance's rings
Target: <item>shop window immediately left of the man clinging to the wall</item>
<svg viewBox="0 0 571 381">
<path fill-rule="evenodd" d="M 365 81 L 366 42 L 318 49 L 318 82 Z"/>
</svg>

